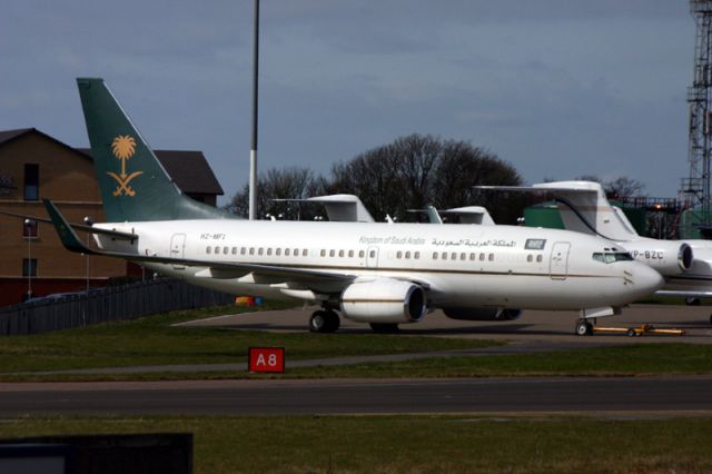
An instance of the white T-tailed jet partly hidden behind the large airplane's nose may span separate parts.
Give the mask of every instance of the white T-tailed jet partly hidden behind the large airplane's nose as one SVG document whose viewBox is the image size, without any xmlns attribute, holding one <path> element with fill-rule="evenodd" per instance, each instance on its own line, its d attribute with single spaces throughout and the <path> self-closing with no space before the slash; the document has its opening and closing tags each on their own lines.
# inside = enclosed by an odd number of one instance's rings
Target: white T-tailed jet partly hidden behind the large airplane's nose
<svg viewBox="0 0 712 474">
<path fill-rule="evenodd" d="M 554 181 L 478 188 L 551 192 L 567 230 L 603 237 L 625 248 L 636 260 L 660 271 L 665 284 L 656 294 L 680 296 L 689 302 L 712 297 L 712 241 L 659 240 L 640 236 L 625 214 L 611 205 L 599 182 Z"/>
</svg>

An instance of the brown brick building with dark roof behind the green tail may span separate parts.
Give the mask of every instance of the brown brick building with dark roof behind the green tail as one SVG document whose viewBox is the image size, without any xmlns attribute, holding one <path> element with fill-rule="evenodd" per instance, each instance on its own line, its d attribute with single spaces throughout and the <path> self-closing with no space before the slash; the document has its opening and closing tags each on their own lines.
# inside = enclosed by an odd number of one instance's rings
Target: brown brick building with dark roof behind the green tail
<svg viewBox="0 0 712 474">
<path fill-rule="evenodd" d="M 222 188 L 200 151 L 157 150 L 158 159 L 188 196 L 215 206 Z M 0 211 L 47 218 L 49 198 L 71 223 L 105 220 L 90 150 L 72 148 L 34 128 L 0 131 Z M 82 237 L 83 234 L 80 234 Z M 120 259 L 65 250 L 51 224 L 0 215 L 0 306 L 32 296 L 106 286 L 140 275 Z"/>
</svg>

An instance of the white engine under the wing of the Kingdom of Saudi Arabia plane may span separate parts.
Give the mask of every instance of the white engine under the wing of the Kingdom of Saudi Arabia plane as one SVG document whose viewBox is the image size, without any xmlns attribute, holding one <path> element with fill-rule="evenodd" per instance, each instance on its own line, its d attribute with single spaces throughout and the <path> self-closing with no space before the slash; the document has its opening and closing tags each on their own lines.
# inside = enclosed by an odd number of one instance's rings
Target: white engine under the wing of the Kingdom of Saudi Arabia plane
<svg viewBox="0 0 712 474">
<path fill-rule="evenodd" d="M 342 293 L 344 317 L 358 323 L 415 323 L 425 315 L 425 290 L 409 282 L 378 278 Z"/>
</svg>

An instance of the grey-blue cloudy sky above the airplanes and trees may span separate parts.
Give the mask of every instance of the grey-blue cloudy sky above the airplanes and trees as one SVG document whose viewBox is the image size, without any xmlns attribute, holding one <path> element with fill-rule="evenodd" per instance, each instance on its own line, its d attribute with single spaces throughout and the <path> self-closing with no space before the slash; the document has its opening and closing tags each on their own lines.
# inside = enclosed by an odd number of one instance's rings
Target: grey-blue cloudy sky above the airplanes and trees
<svg viewBox="0 0 712 474">
<path fill-rule="evenodd" d="M 332 164 L 413 132 L 467 140 L 527 182 L 597 175 L 673 197 L 688 174 L 694 21 L 671 0 L 263 0 L 259 166 Z M 253 0 L 10 1 L 0 130 L 88 139 L 102 77 L 155 148 L 247 181 Z M 476 203 L 463 203 L 463 205 Z"/>
</svg>

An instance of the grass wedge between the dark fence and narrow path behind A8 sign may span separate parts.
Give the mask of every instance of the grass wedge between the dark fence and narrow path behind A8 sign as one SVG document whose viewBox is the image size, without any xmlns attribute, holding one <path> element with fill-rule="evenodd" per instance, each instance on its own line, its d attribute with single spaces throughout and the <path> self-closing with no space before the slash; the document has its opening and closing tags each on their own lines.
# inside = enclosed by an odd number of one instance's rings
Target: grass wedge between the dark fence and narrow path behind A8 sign
<svg viewBox="0 0 712 474">
<path fill-rule="evenodd" d="M 149 316 L 32 336 L 0 337 L 3 374 L 72 368 L 167 364 L 240 363 L 250 346 L 280 346 L 289 359 L 348 355 L 400 354 L 472 348 L 495 343 L 435 337 L 359 334 L 275 334 L 175 323 L 249 308 L 210 308 Z M 306 318 L 306 316 L 305 316 Z M 0 377 L 3 377 L 0 375 Z"/>
</svg>

